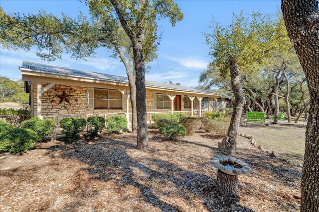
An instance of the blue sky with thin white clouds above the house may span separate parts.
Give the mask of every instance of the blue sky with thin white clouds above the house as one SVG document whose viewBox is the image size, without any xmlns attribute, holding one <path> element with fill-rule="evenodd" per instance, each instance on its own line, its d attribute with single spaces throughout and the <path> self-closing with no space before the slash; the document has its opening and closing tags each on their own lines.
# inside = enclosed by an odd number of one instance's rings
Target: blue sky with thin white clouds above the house
<svg viewBox="0 0 319 212">
<path fill-rule="evenodd" d="M 204 32 L 208 32 L 212 17 L 223 25 L 231 22 L 232 12 L 260 11 L 274 14 L 280 8 L 280 0 L 176 0 L 184 19 L 172 27 L 167 19 L 160 20 L 162 39 L 158 60 L 151 63 L 146 79 L 164 82 L 171 80 L 181 85 L 197 85 L 200 72 L 204 71 L 211 59 L 208 46 L 204 44 Z M 79 10 L 88 14 L 84 2 L 78 0 L 1 0 L 0 6 L 7 13 L 37 13 L 43 9 L 60 15 L 61 12 L 76 18 Z M 52 64 L 75 69 L 96 71 L 126 76 L 124 65 L 119 59 L 111 58 L 107 49 L 98 49 L 95 58 L 88 61 L 71 59 L 63 55 L 62 60 L 46 62 L 36 57 L 36 49 L 29 52 L 0 50 L 0 75 L 13 80 L 21 78 L 18 67 L 23 60 Z"/>
</svg>

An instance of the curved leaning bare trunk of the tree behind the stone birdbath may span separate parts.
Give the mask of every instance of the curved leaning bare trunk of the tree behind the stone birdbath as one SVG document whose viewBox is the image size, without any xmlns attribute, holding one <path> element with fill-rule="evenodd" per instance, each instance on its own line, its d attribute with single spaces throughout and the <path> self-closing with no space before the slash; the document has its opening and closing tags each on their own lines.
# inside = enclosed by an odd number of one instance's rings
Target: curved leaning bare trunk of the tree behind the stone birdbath
<svg viewBox="0 0 319 212">
<path fill-rule="evenodd" d="M 240 70 L 235 59 L 230 58 L 231 89 L 235 95 L 234 110 L 228 128 L 227 137 L 218 143 L 220 151 L 226 154 L 235 153 L 237 148 L 237 132 L 240 124 L 241 113 L 245 105 L 245 95 L 240 85 Z"/>
</svg>

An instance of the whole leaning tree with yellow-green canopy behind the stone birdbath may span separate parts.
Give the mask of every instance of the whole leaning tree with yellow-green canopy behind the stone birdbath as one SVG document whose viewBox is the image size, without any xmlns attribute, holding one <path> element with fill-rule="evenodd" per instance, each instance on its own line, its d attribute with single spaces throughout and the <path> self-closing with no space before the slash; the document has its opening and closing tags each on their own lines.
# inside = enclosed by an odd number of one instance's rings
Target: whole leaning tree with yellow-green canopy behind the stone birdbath
<svg viewBox="0 0 319 212">
<path fill-rule="evenodd" d="M 252 13 L 244 17 L 241 12 L 233 15 L 232 24 L 227 27 L 213 23 L 211 34 L 205 34 L 210 46 L 211 66 L 216 67 L 222 78 L 229 77 L 235 96 L 234 110 L 227 137 L 219 143 L 219 149 L 227 154 L 235 153 L 237 131 L 245 96 L 240 82 L 241 74 L 261 70 L 269 57 L 271 39 L 274 33 L 273 21 L 269 16 Z"/>
</svg>

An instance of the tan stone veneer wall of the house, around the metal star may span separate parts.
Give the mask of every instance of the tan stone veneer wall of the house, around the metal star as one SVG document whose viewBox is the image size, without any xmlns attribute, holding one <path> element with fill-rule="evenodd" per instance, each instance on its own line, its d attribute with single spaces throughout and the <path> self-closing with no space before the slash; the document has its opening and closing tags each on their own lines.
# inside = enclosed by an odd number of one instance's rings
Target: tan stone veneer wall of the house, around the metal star
<svg viewBox="0 0 319 212">
<path fill-rule="evenodd" d="M 42 83 L 42 88 L 44 88 L 48 83 Z M 69 105 L 66 102 L 58 104 L 60 99 L 57 95 L 61 95 L 63 91 L 68 95 L 72 95 L 70 98 Z M 86 118 L 88 114 L 104 114 L 104 113 L 118 113 L 125 115 L 126 113 L 126 102 L 124 96 L 123 98 L 123 109 L 87 109 L 86 108 L 86 91 L 87 87 L 83 86 L 75 86 L 75 85 L 63 85 L 63 84 L 55 84 L 53 87 L 48 89 L 42 94 L 42 116 L 44 118 L 51 118 L 50 116 L 54 116 L 56 122 L 58 123 L 61 119 L 66 117 L 78 117 Z M 148 112 L 170 112 L 171 109 L 156 109 L 154 108 L 153 102 L 153 92 L 147 92 L 147 111 Z M 190 108 L 184 109 L 184 100 L 183 95 L 181 95 L 181 111 L 189 111 Z M 34 111 L 34 116 L 37 113 L 37 84 L 33 83 L 33 105 L 31 108 Z M 194 109 L 198 109 L 198 99 L 194 99 Z M 129 102 L 129 110 L 131 109 L 131 101 Z M 59 117 L 56 117 L 59 116 Z M 62 117 L 64 116 L 64 117 Z M 101 115 L 104 117 L 103 115 Z M 110 115 L 106 116 L 108 118 Z M 148 114 L 148 120 L 150 120 L 150 115 Z M 132 115 L 130 114 L 130 122 L 132 121 Z"/>
</svg>

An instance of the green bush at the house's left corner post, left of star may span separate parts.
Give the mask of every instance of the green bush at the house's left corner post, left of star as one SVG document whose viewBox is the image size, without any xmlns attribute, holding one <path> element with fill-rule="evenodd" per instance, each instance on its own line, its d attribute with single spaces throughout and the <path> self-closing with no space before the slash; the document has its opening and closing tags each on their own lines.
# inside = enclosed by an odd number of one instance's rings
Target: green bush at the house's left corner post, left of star
<svg viewBox="0 0 319 212">
<path fill-rule="evenodd" d="M 55 121 L 53 119 L 39 119 L 38 117 L 33 117 L 21 123 L 21 128 L 31 129 L 37 134 L 38 141 L 44 141 L 51 136 L 54 127 Z"/>
</svg>

